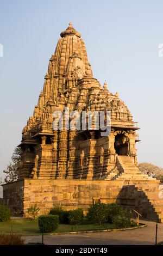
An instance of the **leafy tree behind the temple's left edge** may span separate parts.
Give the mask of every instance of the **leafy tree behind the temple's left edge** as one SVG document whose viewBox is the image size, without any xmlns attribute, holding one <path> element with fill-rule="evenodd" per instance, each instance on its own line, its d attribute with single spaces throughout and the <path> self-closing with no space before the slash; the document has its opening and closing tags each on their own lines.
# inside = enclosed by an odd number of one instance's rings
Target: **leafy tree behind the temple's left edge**
<svg viewBox="0 0 163 256">
<path fill-rule="evenodd" d="M 21 161 L 21 148 L 16 147 L 14 153 L 11 156 L 11 162 L 8 164 L 7 168 L 3 170 L 6 174 L 4 181 L 6 183 L 13 182 L 17 180 L 17 167 Z"/>
</svg>

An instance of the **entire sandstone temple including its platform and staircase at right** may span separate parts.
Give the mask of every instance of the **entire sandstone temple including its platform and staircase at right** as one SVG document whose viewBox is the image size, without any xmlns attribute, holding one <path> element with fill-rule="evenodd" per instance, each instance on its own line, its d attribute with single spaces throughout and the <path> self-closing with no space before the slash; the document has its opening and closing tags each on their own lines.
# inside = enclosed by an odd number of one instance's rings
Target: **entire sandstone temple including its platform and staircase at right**
<svg viewBox="0 0 163 256">
<path fill-rule="evenodd" d="M 3 185 L 4 204 L 15 215 L 27 216 L 35 203 L 41 214 L 53 204 L 86 211 L 92 203 L 118 202 L 162 222 L 159 181 L 137 168 L 139 128 L 129 109 L 106 82 L 101 86 L 93 77 L 84 41 L 71 22 L 60 35 L 34 114 L 22 132 L 18 180 Z M 54 130 L 53 113 L 65 117 L 65 107 L 79 113 L 110 111 L 109 135 L 102 136 L 95 126 L 66 130 L 64 124 Z"/>
</svg>

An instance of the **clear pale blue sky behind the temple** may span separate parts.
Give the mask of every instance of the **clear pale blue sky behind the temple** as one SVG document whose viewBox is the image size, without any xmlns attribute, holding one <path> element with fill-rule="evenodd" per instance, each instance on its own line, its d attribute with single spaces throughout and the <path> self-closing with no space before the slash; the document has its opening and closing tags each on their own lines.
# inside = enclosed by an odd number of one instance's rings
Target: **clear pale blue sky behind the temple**
<svg viewBox="0 0 163 256">
<path fill-rule="evenodd" d="M 93 75 L 106 80 L 139 121 L 139 162 L 163 167 L 162 0 L 1 0 L 0 10 L 0 172 L 21 141 L 49 58 L 70 21 L 82 33 Z"/>
</svg>

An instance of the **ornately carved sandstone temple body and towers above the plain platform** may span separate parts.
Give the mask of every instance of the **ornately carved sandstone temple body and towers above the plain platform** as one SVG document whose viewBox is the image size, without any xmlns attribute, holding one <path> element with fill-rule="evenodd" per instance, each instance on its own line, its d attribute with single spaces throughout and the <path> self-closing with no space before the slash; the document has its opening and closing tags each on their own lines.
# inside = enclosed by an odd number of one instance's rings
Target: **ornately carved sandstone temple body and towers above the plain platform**
<svg viewBox="0 0 163 256">
<path fill-rule="evenodd" d="M 80 132 L 80 135 L 75 130 L 64 130 L 64 122 L 61 131 L 53 130 L 53 112 L 60 111 L 65 117 L 66 106 L 80 113 L 111 111 L 111 133 L 105 138 L 103 146 L 98 146 L 102 137 L 100 131 L 95 131 L 94 116 L 92 130 Z M 73 121 L 72 118 L 70 121 Z M 52 173 L 56 173 L 58 178 L 67 179 L 68 176 L 72 178 L 73 175 L 80 178 L 80 169 L 86 172 L 87 168 L 89 175 L 84 174 L 83 177 L 90 179 L 91 173 L 95 173 L 95 176 L 98 173 L 96 163 L 99 161 L 103 166 L 105 160 L 108 161 L 107 159 L 111 159 L 112 155 L 116 155 L 116 147 L 124 144 L 128 145 L 128 154 L 135 155 L 136 137 L 132 135 L 135 131 L 133 127 L 129 109 L 118 93 L 115 95 L 110 93 L 106 81 L 102 87 L 93 77 L 84 42 L 70 23 L 61 33 L 55 54 L 49 61 L 45 84 L 35 106 L 34 115 L 28 119 L 23 129 L 22 147 L 27 138 L 37 145 L 36 154 L 40 156 L 39 178 L 41 176 L 51 178 Z M 117 138 L 117 135 L 122 137 Z M 89 140 L 91 143 L 93 141 L 96 143 L 90 145 Z M 83 144 L 84 146 L 80 148 Z M 35 153 L 32 154 L 34 165 Z M 114 156 L 110 161 L 115 163 Z"/>
</svg>

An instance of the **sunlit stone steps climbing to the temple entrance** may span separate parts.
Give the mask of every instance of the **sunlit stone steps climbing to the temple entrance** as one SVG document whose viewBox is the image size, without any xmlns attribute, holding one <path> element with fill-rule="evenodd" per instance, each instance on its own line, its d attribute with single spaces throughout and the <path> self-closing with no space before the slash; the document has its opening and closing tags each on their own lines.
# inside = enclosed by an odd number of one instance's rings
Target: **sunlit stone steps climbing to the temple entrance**
<svg viewBox="0 0 163 256">
<path fill-rule="evenodd" d="M 123 180 L 124 185 L 135 185 L 137 191 L 145 196 L 148 205 L 153 208 L 153 211 L 147 213 L 148 220 L 150 218 L 154 220 L 155 215 L 155 220 L 163 223 L 163 198 L 160 194 L 163 187 L 159 185 L 160 181 L 141 173 L 130 156 L 117 156 L 116 164 L 120 172 L 112 179 L 116 181 Z"/>
</svg>

